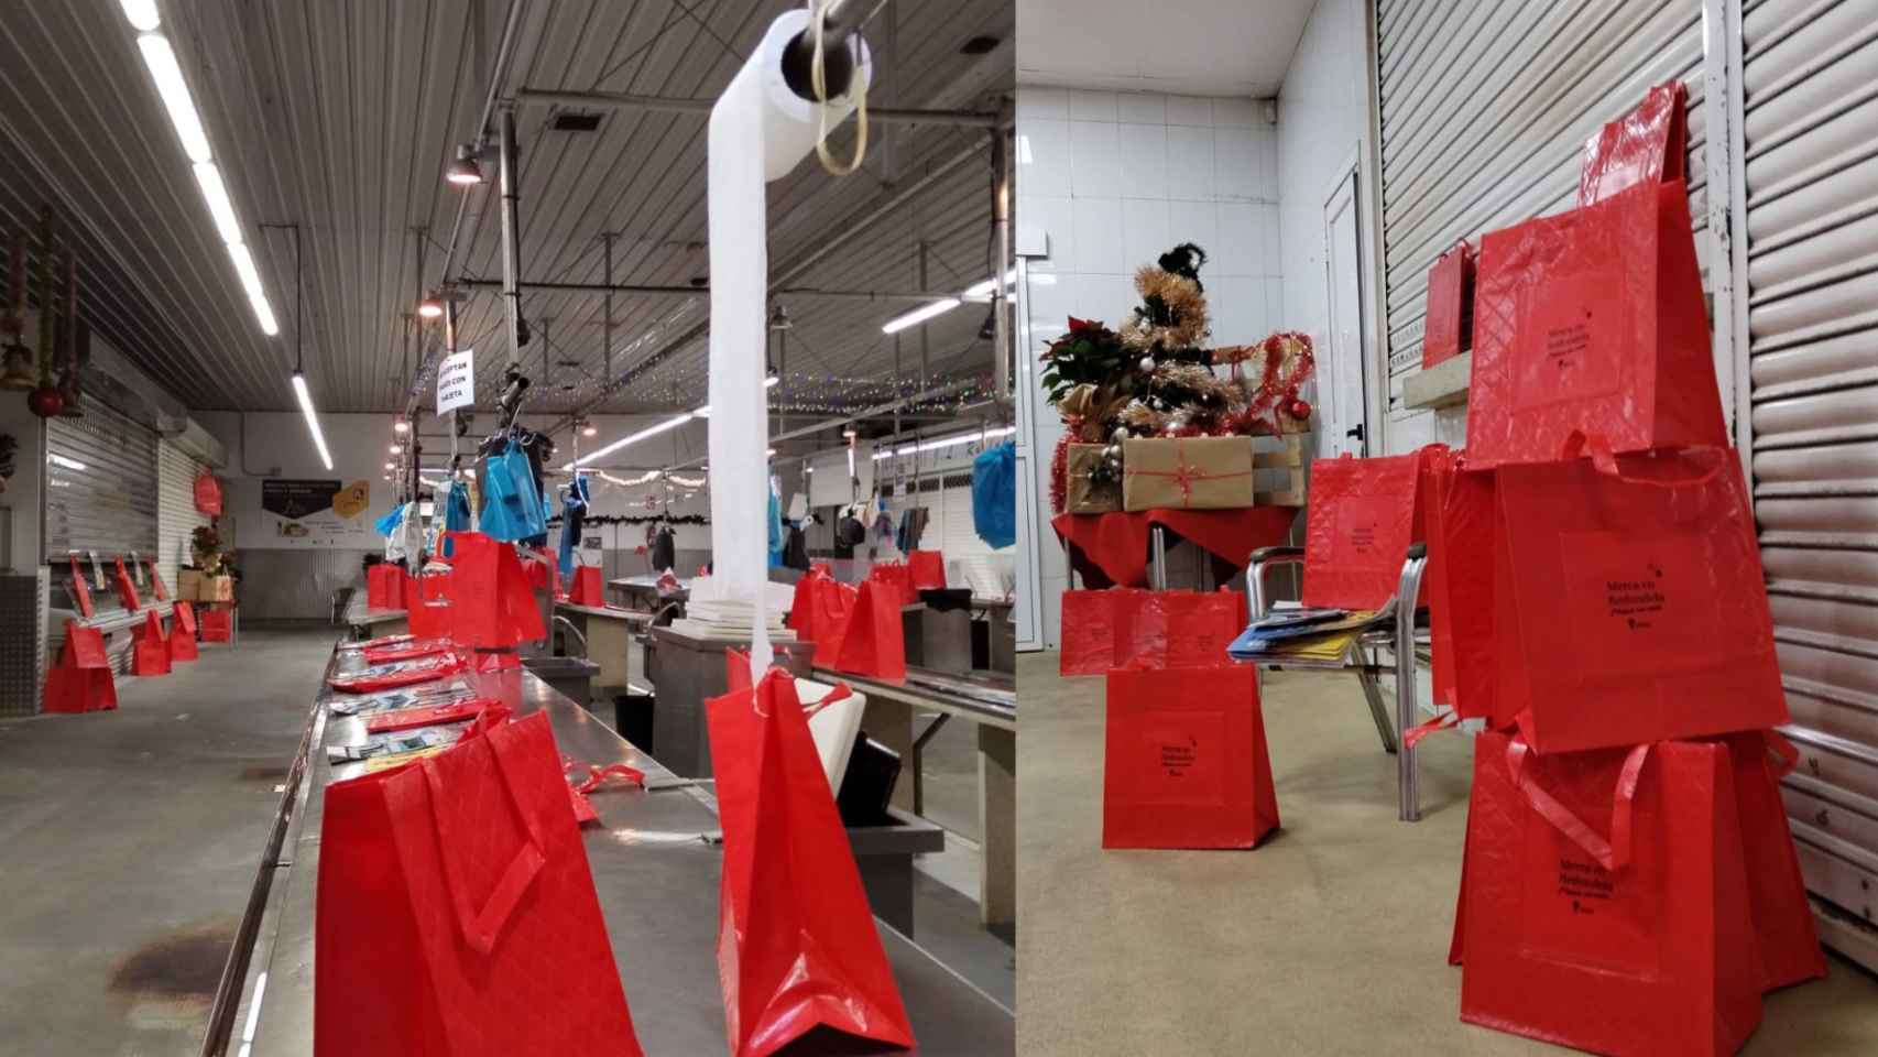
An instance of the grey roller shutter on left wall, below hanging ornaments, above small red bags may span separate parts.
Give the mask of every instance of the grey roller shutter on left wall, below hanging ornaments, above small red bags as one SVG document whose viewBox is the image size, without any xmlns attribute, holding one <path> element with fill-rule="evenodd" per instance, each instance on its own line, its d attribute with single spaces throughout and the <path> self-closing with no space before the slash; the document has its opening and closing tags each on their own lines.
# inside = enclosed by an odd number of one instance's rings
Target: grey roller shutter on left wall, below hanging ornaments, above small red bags
<svg viewBox="0 0 1878 1057">
<path fill-rule="evenodd" d="M 156 554 L 156 432 L 98 400 L 45 422 L 45 559 Z"/>
</svg>

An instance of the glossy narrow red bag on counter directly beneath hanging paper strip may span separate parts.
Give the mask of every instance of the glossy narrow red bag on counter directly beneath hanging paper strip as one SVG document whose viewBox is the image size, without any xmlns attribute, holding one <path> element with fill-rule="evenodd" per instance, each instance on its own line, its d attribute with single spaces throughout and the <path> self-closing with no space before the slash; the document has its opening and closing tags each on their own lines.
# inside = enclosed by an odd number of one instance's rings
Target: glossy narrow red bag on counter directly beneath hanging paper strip
<svg viewBox="0 0 1878 1057">
<path fill-rule="evenodd" d="M 913 1048 L 794 680 L 770 668 L 704 712 L 723 822 L 717 976 L 731 1057 L 768 1057 L 817 1027 Z"/>
</svg>

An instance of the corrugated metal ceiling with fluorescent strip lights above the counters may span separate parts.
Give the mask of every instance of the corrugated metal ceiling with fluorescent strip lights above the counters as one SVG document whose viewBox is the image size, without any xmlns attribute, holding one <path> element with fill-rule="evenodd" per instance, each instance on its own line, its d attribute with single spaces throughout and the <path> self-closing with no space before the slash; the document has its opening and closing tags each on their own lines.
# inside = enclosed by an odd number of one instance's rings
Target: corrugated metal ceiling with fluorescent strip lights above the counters
<svg viewBox="0 0 1878 1057">
<path fill-rule="evenodd" d="M 505 94 L 522 86 L 710 100 L 791 0 L 524 0 Z M 995 109 L 1012 84 L 1008 0 L 894 0 L 868 26 L 877 73 L 870 100 L 896 109 Z M 15 229 L 56 199 L 86 246 L 83 283 L 94 325 L 192 407 L 287 409 L 293 364 L 295 255 L 304 238 L 306 374 L 321 409 L 402 407 L 409 362 L 406 319 L 441 278 L 460 191 L 441 180 L 454 146 L 475 133 L 505 0 L 199 0 L 162 2 L 248 242 L 282 323 L 265 338 L 203 208 L 115 0 L 0 6 L 0 223 Z M 481 26 L 481 32 L 477 32 Z M 980 56 L 969 38 L 1003 43 Z M 704 116 L 610 111 L 592 133 L 552 131 L 554 107 L 518 111 L 522 141 L 522 276 L 599 282 L 603 231 L 614 282 L 684 285 L 704 276 Z M 864 235 L 819 259 L 791 285 L 916 287 L 918 244 L 931 283 L 958 289 L 990 274 L 986 133 L 947 126 L 875 128 L 864 173 L 826 176 L 808 161 L 770 190 L 770 261 L 785 274 L 896 188 L 958 160 Z M 494 175 L 494 165 L 486 165 Z M 458 274 L 498 278 L 494 191 L 471 191 Z M 419 235 L 423 276 L 419 278 Z M 879 325 L 903 302 L 783 299 L 794 319 L 789 372 L 815 379 L 885 377 L 892 338 Z M 614 372 L 702 321 L 702 299 L 616 295 Z M 586 406 L 605 351 L 601 297 L 531 291 L 524 315 L 537 340 L 524 366 L 548 387 L 537 411 Z M 941 317 L 930 334 L 933 374 L 990 368 L 977 340 L 984 310 Z M 430 329 L 432 342 L 436 329 Z M 909 370 L 918 340 L 905 334 Z M 511 359 L 500 299 L 464 306 L 462 344 L 477 349 L 479 404 L 494 400 Z M 408 359 L 409 355 L 409 359 Z M 702 394 L 702 342 L 607 402 L 629 411 Z M 578 366 L 560 366 L 577 360 Z M 563 389 L 571 387 L 571 389 Z"/>
</svg>

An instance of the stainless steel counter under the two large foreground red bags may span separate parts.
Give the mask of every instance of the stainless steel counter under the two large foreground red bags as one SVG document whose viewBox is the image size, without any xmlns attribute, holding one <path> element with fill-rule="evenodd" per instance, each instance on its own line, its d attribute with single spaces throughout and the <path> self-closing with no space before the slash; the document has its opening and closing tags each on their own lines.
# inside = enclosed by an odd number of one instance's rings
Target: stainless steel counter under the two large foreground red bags
<svg viewBox="0 0 1878 1057">
<path fill-rule="evenodd" d="M 334 665 L 342 659 L 336 655 Z M 507 700 L 518 715 L 546 712 L 562 755 L 597 764 L 625 762 L 646 772 L 652 792 L 593 794 L 601 826 L 586 830 L 601 911 L 639 1040 L 650 1055 L 716 1055 L 729 1049 L 717 984 L 719 847 L 700 834 L 717 830 L 714 798 L 680 783 L 586 710 L 550 691 L 528 672 L 466 676 L 486 697 Z M 314 1048 L 314 892 L 319 875 L 319 824 L 325 787 L 362 764 L 327 764 L 325 745 L 364 738 L 361 719 L 327 717 L 331 691 L 321 689 L 312 719 L 312 755 L 300 783 L 300 811 L 287 826 L 282 866 L 261 916 L 259 939 L 233 1019 L 229 1053 L 252 1036 L 254 1057 L 300 1057 Z M 665 785 L 667 789 L 659 789 Z M 888 963 L 900 982 L 913 1031 L 926 1055 L 1016 1051 L 1008 1008 L 935 961 L 913 941 L 877 922 Z M 259 1003 L 259 1010 L 255 1010 Z M 898 1053 L 892 1048 L 838 1040 L 830 1053 Z M 595 1048 L 603 1051 L 603 1048 Z M 813 1053 L 804 1049 L 802 1053 Z"/>
</svg>

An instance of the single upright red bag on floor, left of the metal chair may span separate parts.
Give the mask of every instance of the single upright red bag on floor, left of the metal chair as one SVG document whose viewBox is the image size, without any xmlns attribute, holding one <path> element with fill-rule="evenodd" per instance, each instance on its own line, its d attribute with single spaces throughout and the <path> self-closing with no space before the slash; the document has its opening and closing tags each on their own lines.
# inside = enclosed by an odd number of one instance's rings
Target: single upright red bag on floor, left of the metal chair
<svg viewBox="0 0 1878 1057">
<path fill-rule="evenodd" d="M 1249 849 L 1277 826 L 1251 665 L 1108 672 L 1104 849 Z"/>
</svg>

